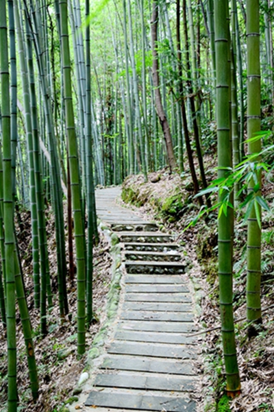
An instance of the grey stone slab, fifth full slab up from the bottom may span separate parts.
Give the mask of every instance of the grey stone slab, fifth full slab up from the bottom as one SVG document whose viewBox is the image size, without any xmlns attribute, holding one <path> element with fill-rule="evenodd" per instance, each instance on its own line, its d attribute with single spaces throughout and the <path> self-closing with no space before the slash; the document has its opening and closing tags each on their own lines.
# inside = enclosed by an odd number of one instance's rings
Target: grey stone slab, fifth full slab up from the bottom
<svg viewBox="0 0 274 412">
<path fill-rule="evenodd" d="M 140 330 L 117 330 L 114 339 L 117 341 L 172 343 L 177 345 L 191 345 L 197 339 L 175 332 L 147 332 Z"/>
</svg>

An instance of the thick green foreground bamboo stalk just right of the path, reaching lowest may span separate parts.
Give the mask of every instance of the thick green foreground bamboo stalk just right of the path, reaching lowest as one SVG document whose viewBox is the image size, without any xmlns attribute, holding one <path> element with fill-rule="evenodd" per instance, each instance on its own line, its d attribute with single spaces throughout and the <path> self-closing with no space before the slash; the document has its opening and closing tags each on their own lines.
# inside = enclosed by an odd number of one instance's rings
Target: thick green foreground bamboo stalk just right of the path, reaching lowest
<svg viewBox="0 0 274 412">
<path fill-rule="evenodd" d="M 218 138 L 219 178 L 227 176 L 232 167 L 230 143 L 230 109 L 229 109 L 229 25 L 224 19 L 228 13 L 227 0 L 214 0 L 214 25 L 216 45 L 216 122 Z M 219 200 L 222 198 L 220 196 Z M 228 208 L 229 209 L 229 208 Z M 227 210 L 229 212 L 229 210 Z M 219 291 L 220 311 L 227 378 L 227 394 L 236 396 L 240 391 L 236 343 L 233 317 L 232 293 L 232 226 L 233 213 L 221 213 L 218 223 L 219 242 Z"/>
</svg>

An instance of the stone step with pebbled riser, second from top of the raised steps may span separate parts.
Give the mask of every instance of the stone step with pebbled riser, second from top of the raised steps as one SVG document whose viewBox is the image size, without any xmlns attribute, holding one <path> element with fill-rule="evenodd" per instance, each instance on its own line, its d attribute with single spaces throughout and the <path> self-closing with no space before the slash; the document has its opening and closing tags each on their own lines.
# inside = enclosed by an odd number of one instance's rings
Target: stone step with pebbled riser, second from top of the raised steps
<svg viewBox="0 0 274 412">
<path fill-rule="evenodd" d="M 171 243 L 173 237 L 163 232 L 118 232 L 121 242 L 129 243 Z"/>
</svg>

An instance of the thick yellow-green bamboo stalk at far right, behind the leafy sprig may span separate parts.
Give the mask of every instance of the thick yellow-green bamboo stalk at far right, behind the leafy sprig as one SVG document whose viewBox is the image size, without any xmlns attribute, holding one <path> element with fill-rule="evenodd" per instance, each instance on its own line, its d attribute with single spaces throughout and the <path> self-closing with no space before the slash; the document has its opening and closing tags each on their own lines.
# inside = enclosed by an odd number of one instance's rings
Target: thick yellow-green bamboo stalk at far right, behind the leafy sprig
<svg viewBox="0 0 274 412">
<path fill-rule="evenodd" d="M 247 0 L 247 138 L 260 131 L 260 11 L 259 0 Z M 249 154 L 261 151 L 261 139 L 249 142 Z M 259 158 L 258 158 L 259 160 Z M 262 178 L 258 173 L 261 193 Z M 253 191 L 254 182 L 249 185 Z M 255 205 L 248 218 L 247 228 L 247 320 L 262 322 L 260 282 L 261 282 L 261 228 L 258 222 L 260 206 L 256 214 Z M 249 335 L 254 326 L 249 327 Z"/>
</svg>

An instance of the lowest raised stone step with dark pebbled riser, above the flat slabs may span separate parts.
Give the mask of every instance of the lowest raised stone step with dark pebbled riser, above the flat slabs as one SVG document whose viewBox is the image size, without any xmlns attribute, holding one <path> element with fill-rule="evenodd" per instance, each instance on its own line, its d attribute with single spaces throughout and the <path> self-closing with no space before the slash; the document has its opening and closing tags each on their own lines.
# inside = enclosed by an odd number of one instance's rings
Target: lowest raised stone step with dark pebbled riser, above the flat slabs
<svg viewBox="0 0 274 412">
<path fill-rule="evenodd" d="M 125 269 L 128 274 L 184 274 L 185 263 L 149 262 L 149 260 L 126 260 Z"/>
</svg>

